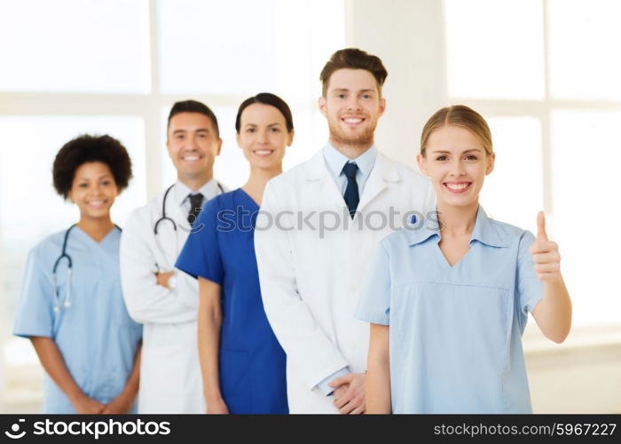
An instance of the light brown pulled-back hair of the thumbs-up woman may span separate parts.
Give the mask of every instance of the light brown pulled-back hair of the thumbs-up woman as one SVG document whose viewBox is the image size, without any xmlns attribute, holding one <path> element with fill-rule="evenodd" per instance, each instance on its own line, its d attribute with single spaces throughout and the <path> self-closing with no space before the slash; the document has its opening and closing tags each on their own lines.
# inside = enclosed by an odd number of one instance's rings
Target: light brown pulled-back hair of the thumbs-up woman
<svg viewBox="0 0 621 444">
<path fill-rule="evenodd" d="M 490 127 L 483 119 L 483 115 L 465 105 L 452 105 L 451 107 L 438 109 L 425 123 L 421 133 L 421 155 L 423 157 L 425 157 L 425 150 L 427 149 L 427 143 L 431 134 L 448 125 L 460 126 L 472 132 L 481 141 L 485 149 L 485 155 L 493 153 Z"/>
</svg>

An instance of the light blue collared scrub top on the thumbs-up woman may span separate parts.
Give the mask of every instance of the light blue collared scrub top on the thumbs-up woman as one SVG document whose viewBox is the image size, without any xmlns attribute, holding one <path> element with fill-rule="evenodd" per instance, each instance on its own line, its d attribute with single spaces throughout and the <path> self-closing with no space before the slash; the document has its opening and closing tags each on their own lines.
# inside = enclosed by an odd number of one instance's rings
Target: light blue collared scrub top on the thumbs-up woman
<svg viewBox="0 0 621 444">
<path fill-rule="evenodd" d="M 521 336 L 543 296 L 534 240 L 479 207 L 454 266 L 436 221 L 381 241 L 356 315 L 390 326 L 394 413 L 531 413 Z"/>
</svg>

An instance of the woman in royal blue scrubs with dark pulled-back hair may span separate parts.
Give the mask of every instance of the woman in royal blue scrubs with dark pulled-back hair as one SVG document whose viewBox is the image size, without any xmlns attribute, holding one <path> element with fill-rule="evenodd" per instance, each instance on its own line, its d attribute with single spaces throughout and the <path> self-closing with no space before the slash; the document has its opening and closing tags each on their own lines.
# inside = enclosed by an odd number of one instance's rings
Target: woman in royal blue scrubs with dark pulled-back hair
<svg viewBox="0 0 621 444">
<path fill-rule="evenodd" d="M 208 202 L 176 266 L 199 278 L 208 413 L 287 414 L 286 356 L 263 310 L 254 230 L 265 185 L 293 142 L 293 118 L 284 100 L 263 92 L 240 105 L 235 129 L 248 182 Z"/>
</svg>

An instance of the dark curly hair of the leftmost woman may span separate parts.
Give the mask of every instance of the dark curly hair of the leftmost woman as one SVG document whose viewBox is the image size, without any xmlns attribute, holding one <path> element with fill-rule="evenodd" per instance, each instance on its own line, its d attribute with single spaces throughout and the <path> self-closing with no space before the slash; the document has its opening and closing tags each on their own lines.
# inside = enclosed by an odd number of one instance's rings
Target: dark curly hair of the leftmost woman
<svg viewBox="0 0 621 444">
<path fill-rule="evenodd" d="M 67 199 L 74 183 L 75 170 L 90 162 L 106 163 L 119 191 L 130 183 L 131 159 L 121 142 L 107 135 L 84 134 L 69 140 L 54 159 L 52 176 L 58 194 Z"/>
</svg>

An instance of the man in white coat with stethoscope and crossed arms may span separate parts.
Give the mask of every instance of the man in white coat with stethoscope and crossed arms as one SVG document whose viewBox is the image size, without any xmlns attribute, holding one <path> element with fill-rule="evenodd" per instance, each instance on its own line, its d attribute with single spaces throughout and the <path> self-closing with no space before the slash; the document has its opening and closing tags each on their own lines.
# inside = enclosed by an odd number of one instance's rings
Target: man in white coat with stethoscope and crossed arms
<svg viewBox="0 0 621 444">
<path fill-rule="evenodd" d="M 216 115 L 200 102 L 177 102 L 166 145 L 177 182 L 131 213 L 121 239 L 125 304 L 144 324 L 138 413 L 204 413 L 198 283 L 173 266 L 200 209 L 224 192 L 213 178 L 222 146 Z"/>
</svg>

